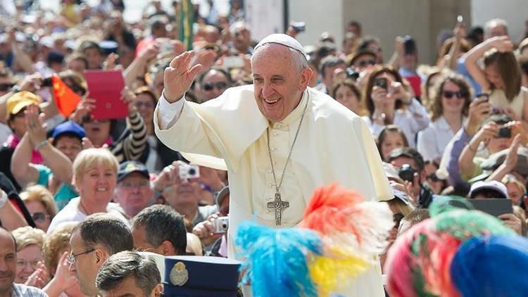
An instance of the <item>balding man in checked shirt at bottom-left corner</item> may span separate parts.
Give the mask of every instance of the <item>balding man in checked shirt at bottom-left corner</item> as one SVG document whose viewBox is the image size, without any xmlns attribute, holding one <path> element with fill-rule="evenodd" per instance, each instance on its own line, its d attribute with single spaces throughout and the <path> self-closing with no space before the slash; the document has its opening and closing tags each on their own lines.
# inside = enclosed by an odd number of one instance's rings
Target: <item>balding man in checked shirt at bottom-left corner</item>
<svg viewBox="0 0 528 297">
<path fill-rule="evenodd" d="M 0 228 L 0 296 L 45 297 L 40 289 L 24 284 L 15 284 L 16 246 L 15 239 L 4 228 Z"/>
</svg>

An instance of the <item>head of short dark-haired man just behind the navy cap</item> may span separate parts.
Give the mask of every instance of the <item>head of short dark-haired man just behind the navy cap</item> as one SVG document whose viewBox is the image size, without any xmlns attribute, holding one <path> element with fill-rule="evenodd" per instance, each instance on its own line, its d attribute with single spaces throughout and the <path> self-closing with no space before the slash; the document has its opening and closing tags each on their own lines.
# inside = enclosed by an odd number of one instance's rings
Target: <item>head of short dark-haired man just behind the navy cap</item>
<svg viewBox="0 0 528 297">
<path fill-rule="evenodd" d="M 161 255 L 185 255 L 187 232 L 183 217 L 170 206 L 149 206 L 134 217 L 134 248 Z"/>
</svg>

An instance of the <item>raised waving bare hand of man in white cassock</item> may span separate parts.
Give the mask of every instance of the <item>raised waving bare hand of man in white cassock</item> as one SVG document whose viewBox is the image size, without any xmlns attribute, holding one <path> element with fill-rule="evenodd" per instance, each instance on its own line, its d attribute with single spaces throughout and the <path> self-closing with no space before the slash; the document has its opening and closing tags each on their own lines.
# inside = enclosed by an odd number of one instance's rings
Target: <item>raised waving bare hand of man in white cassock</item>
<svg viewBox="0 0 528 297">
<path fill-rule="evenodd" d="M 202 65 L 196 64 L 191 67 L 191 59 L 194 51 L 185 51 L 170 61 L 169 67 L 165 68 L 163 75 L 163 95 L 169 103 L 180 100 L 186 91 L 191 88 L 193 80 L 200 72 Z"/>
</svg>

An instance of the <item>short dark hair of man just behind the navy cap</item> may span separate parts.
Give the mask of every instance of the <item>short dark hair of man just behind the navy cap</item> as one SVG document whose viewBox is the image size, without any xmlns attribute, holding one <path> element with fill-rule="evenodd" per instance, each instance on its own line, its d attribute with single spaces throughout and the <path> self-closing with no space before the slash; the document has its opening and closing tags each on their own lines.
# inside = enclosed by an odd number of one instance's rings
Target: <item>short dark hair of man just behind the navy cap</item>
<svg viewBox="0 0 528 297">
<path fill-rule="evenodd" d="M 154 247 L 168 240 L 178 255 L 185 254 L 187 231 L 182 215 L 171 206 L 154 205 L 140 211 L 133 227 L 144 226 L 146 241 Z"/>
</svg>

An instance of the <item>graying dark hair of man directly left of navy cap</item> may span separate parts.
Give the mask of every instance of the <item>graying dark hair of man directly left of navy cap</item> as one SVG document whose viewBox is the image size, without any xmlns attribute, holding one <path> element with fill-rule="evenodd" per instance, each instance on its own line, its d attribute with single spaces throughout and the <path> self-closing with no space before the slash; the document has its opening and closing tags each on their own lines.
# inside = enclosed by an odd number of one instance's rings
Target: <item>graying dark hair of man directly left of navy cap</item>
<svg viewBox="0 0 528 297">
<path fill-rule="evenodd" d="M 109 291 L 127 277 L 134 277 L 144 296 L 150 296 L 152 290 L 161 284 L 161 275 L 154 260 L 132 251 L 122 251 L 106 259 L 97 273 L 95 285 L 100 291 Z"/>
</svg>

